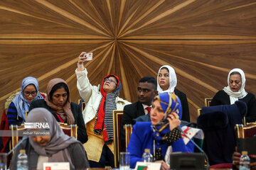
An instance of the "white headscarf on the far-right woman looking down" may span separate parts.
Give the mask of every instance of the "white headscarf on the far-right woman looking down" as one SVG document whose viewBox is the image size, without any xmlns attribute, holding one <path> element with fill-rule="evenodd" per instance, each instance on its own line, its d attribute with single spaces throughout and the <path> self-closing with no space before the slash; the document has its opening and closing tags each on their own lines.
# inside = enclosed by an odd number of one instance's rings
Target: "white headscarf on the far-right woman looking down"
<svg viewBox="0 0 256 170">
<path fill-rule="evenodd" d="M 242 86 L 237 92 L 232 91 L 229 86 L 230 74 L 233 72 L 239 72 L 242 79 Z M 238 98 L 244 98 L 247 95 L 247 92 L 245 91 L 245 73 L 242 71 L 242 69 L 232 69 L 228 73 L 228 86 L 225 86 L 223 91 L 225 91 L 225 93 L 228 94 L 228 96 L 230 96 L 230 104 L 233 104 L 235 103 L 235 101 L 238 101 Z"/>
</svg>

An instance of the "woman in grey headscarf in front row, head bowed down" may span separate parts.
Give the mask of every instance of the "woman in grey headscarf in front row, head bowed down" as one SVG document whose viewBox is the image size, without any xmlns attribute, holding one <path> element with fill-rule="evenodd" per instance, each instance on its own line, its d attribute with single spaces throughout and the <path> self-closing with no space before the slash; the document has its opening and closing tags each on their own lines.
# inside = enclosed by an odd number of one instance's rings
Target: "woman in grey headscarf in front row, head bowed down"
<svg viewBox="0 0 256 170">
<path fill-rule="evenodd" d="M 16 169 L 20 149 L 28 155 L 28 169 L 43 169 L 43 162 L 69 162 L 70 169 L 89 168 L 85 149 L 74 137 L 65 135 L 53 115 L 46 108 L 34 108 L 28 123 L 48 123 L 50 135 L 29 136 L 15 149 L 9 169 Z"/>
</svg>

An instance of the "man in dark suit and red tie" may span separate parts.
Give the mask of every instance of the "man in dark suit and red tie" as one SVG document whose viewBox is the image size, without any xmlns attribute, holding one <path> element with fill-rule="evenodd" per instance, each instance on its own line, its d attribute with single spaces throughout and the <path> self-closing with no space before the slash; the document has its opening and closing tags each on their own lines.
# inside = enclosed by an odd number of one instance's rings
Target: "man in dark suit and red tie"
<svg viewBox="0 0 256 170">
<path fill-rule="evenodd" d="M 150 114 L 151 102 L 157 95 L 156 91 L 157 82 L 154 77 L 143 77 L 139 80 L 138 85 L 138 99 L 139 101 L 124 106 L 124 115 L 122 116 L 122 127 L 125 124 L 134 124 L 133 119 L 138 118 L 141 115 Z M 125 146 L 125 132 L 121 129 L 122 146 Z M 125 148 L 123 147 L 123 150 Z"/>
</svg>

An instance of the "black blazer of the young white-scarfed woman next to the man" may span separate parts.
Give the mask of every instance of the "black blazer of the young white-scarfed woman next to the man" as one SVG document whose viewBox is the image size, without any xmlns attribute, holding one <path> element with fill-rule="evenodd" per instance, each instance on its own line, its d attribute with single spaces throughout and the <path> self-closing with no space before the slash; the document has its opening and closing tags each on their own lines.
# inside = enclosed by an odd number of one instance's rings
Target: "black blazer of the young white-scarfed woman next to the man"
<svg viewBox="0 0 256 170">
<path fill-rule="evenodd" d="M 184 94 L 182 91 L 179 91 L 178 89 L 174 89 L 174 94 L 176 94 L 178 96 L 178 98 L 180 98 L 180 100 L 181 100 L 181 106 L 182 106 L 181 120 L 190 122 L 188 100 L 186 98 L 186 94 Z"/>
</svg>

